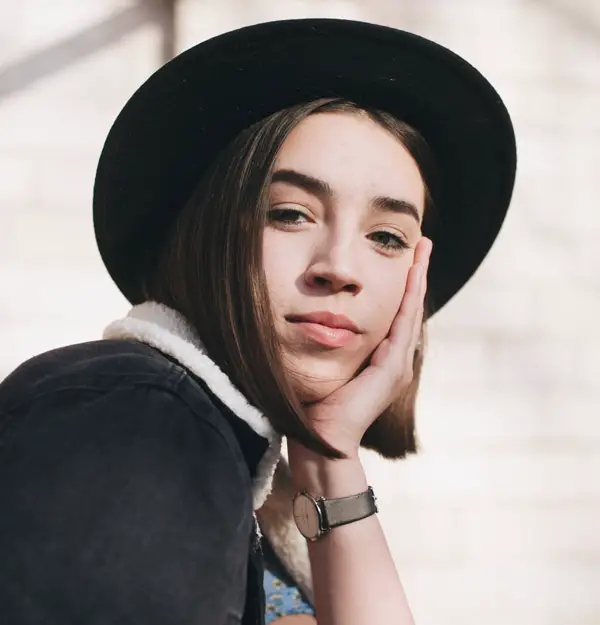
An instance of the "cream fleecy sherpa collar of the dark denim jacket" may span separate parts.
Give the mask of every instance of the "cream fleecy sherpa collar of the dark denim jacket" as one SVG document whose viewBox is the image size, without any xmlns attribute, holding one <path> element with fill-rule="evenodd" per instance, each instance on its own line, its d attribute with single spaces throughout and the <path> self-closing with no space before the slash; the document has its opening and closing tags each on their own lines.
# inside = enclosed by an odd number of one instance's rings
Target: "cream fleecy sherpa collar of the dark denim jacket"
<svg viewBox="0 0 600 625">
<path fill-rule="evenodd" d="M 111 323 L 105 339 L 134 339 L 158 349 L 199 378 L 269 447 L 253 481 L 254 509 L 260 528 L 294 581 L 312 601 L 310 562 L 306 542 L 292 515 L 294 489 L 287 462 L 281 454 L 281 436 L 269 420 L 250 405 L 231 380 L 208 357 L 198 335 L 175 310 L 156 302 L 134 306 L 126 317 Z"/>
</svg>

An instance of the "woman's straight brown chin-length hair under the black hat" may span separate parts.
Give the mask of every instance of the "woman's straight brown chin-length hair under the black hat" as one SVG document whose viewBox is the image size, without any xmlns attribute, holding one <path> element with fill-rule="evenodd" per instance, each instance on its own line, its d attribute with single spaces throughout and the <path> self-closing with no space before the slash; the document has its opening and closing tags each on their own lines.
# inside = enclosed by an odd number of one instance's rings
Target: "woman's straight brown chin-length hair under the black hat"
<svg viewBox="0 0 600 625">
<path fill-rule="evenodd" d="M 216 157 L 178 216 L 146 296 L 179 311 L 196 328 L 210 358 L 277 431 L 340 458 L 343 454 L 310 427 L 285 373 L 262 268 L 261 235 L 277 153 L 303 119 L 326 112 L 367 114 L 395 136 L 426 181 L 429 212 L 430 157 L 410 126 L 337 99 L 294 106 L 246 129 Z M 364 446 L 388 457 L 416 450 L 414 410 L 422 359 L 420 349 L 411 384 L 367 430 Z M 396 441 L 398 434 L 401 438 L 393 448 L 386 442 L 392 433 Z"/>
</svg>

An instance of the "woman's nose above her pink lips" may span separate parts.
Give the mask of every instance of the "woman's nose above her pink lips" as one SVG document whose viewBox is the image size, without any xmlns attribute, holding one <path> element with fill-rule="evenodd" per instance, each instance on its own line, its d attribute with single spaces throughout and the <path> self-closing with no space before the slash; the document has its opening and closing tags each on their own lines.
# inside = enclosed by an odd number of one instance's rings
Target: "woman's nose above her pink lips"
<svg viewBox="0 0 600 625">
<path fill-rule="evenodd" d="M 358 276 L 356 254 L 349 246 L 335 246 L 315 254 L 304 274 L 306 284 L 324 292 L 358 295 L 363 285 Z"/>
</svg>

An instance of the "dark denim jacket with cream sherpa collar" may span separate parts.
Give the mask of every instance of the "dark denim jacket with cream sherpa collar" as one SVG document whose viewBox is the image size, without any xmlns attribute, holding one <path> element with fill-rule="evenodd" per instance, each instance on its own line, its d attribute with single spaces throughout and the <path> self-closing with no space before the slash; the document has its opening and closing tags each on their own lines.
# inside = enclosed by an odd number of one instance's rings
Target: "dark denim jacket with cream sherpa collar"
<svg viewBox="0 0 600 625">
<path fill-rule="evenodd" d="M 310 597 L 280 442 L 158 304 L 24 363 L 0 384 L 0 622 L 263 623 L 256 511 Z"/>
</svg>

